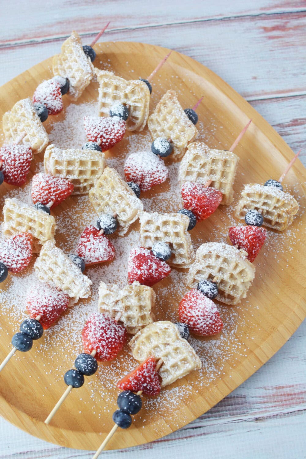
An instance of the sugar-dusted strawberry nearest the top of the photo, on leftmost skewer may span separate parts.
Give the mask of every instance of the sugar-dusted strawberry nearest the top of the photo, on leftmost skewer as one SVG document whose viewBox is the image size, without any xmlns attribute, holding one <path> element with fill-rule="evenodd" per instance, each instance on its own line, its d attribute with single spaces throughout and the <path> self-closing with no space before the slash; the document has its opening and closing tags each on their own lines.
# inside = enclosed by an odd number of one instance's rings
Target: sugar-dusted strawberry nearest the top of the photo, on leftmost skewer
<svg viewBox="0 0 306 459">
<path fill-rule="evenodd" d="M 35 102 L 45 105 L 49 115 L 60 113 L 63 109 L 63 100 L 59 82 L 52 78 L 40 83 L 33 95 L 33 103 Z"/>
</svg>

